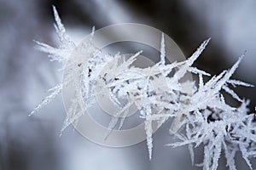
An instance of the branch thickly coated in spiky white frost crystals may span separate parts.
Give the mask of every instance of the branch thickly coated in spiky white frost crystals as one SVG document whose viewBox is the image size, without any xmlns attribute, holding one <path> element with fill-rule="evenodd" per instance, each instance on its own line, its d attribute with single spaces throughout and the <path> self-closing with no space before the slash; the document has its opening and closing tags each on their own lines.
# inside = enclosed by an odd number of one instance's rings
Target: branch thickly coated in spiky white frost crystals
<svg viewBox="0 0 256 170">
<path fill-rule="evenodd" d="M 51 60 L 57 60 L 73 68 L 67 71 L 66 84 L 57 84 L 49 89 L 49 96 L 35 108 L 30 116 L 44 105 L 47 105 L 62 87 L 71 84 L 75 89 L 75 98 L 68 108 L 67 118 L 61 129 L 62 131 L 71 123 L 79 120 L 79 116 L 96 103 L 96 83 L 102 82 L 102 92 L 108 89 L 109 98 L 114 105 L 119 107 L 119 112 L 113 116 L 108 128 L 111 130 L 117 126 L 122 127 L 125 121 L 127 109 L 135 104 L 140 111 L 140 117 L 144 120 L 145 133 L 147 134 L 148 156 L 152 157 L 152 122 L 157 122 L 160 127 L 167 119 L 173 118 L 170 133 L 177 136 L 176 143 L 166 144 L 172 147 L 188 145 L 192 164 L 194 164 L 193 148 L 204 145 L 204 160 L 201 163 L 203 169 L 215 170 L 218 167 L 218 159 L 221 152 L 227 161 L 227 167 L 236 169 L 235 156 L 241 151 L 247 165 L 253 169 L 250 158 L 256 156 L 256 123 L 254 113 L 247 109 L 249 100 L 241 99 L 230 87 L 236 86 L 253 87 L 246 82 L 230 79 L 241 62 L 244 54 L 236 61 L 229 70 L 213 76 L 208 82 L 204 82 L 204 76 L 210 76 L 206 71 L 195 68 L 193 63 L 200 56 L 210 39 L 202 42 L 201 46 L 189 59 L 182 62 L 173 62 L 166 65 L 165 39 L 162 34 L 160 42 L 160 61 L 148 68 L 137 68 L 132 63 L 143 51 L 133 54 L 125 59 L 122 54 L 99 55 L 101 53 L 91 43 L 91 39 L 84 44 L 84 50 L 88 56 L 86 59 L 70 60 L 69 56 L 76 48 L 74 42 L 67 36 L 61 19 L 53 7 L 55 14 L 55 31 L 60 40 L 60 46 L 54 48 L 42 42 L 36 42 L 38 49 L 48 53 Z M 94 28 L 91 34 L 93 38 Z M 67 61 L 72 61 L 69 63 Z M 102 69 L 106 72 L 101 73 Z M 107 68 L 107 69 L 106 69 Z M 173 76 L 170 73 L 174 71 Z M 198 75 L 199 82 L 181 82 L 187 72 Z M 102 76 L 99 76 L 102 75 Z M 80 80 L 82 79 L 82 83 Z M 191 92 L 183 88 L 189 84 Z M 105 91 L 104 91 L 105 90 Z M 225 103 L 224 90 L 231 97 L 241 102 L 238 108 Z M 82 93 L 82 96 L 79 94 Z M 255 108 L 256 110 L 256 108 Z M 119 116 L 122 116 L 119 118 Z M 183 130 L 179 130 L 183 128 Z"/>
</svg>

